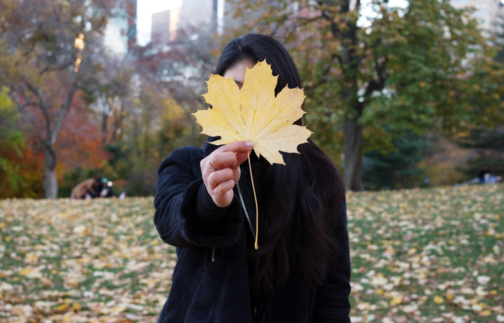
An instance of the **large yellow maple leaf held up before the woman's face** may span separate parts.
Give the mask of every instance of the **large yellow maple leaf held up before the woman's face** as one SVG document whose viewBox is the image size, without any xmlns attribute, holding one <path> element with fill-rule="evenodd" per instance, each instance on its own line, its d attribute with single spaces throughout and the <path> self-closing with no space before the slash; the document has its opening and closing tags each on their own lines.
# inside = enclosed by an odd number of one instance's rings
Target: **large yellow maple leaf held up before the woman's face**
<svg viewBox="0 0 504 323">
<path fill-rule="evenodd" d="M 297 146 L 312 134 L 305 126 L 293 124 L 305 112 L 301 109 L 303 90 L 285 87 L 275 97 L 278 76 L 266 60 L 246 69 L 241 89 L 231 78 L 211 75 L 203 97 L 212 109 L 194 113 L 202 134 L 221 139 L 214 145 L 239 140 L 255 143 L 254 151 L 271 164 L 285 165 L 279 151 L 299 153 Z"/>
</svg>

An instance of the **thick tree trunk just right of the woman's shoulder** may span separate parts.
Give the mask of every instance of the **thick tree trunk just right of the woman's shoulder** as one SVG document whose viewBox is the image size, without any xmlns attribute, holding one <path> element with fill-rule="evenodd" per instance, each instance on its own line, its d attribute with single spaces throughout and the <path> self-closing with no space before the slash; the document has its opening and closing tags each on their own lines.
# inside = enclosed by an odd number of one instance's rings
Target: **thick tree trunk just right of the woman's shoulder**
<svg viewBox="0 0 504 323">
<path fill-rule="evenodd" d="M 347 190 L 363 190 L 362 184 L 362 128 L 358 125 L 359 117 L 345 119 L 345 159 L 343 162 L 343 180 Z"/>
</svg>

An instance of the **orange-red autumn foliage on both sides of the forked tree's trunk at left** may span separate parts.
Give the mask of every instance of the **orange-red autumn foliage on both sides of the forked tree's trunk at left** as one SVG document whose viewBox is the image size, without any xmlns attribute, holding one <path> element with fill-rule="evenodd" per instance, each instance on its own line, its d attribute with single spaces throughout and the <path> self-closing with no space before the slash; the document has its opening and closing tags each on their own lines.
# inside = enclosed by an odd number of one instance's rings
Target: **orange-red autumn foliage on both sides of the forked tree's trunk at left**
<svg viewBox="0 0 504 323">
<path fill-rule="evenodd" d="M 93 122 L 82 95 L 73 100 L 73 107 L 65 116 L 55 148 L 57 152 L 57 179 L 61 184 L 65 174 L 77 167 L 85 169 L 103 168 L 112 157 L 103 147 L 103 135 Z M 33 122 L 43 122 L 38 109 L 30 111 Z M 35 130 L 37 127 L 33 126 Z M 18 155 L 14 150 L 0 148 L 0 154 L 17 165 L 17 183 L 6 180 L 0 174 L 0 198 L 42 198 L 44 180 L 44 148 L 37 131 L 26 133 L 25 145 Z"/>
</svg>

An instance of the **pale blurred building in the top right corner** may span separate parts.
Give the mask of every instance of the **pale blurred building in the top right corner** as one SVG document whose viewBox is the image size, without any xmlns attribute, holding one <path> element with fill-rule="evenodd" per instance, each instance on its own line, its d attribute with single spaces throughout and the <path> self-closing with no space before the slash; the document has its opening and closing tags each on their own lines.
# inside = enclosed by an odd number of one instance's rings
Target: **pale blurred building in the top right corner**
<svg viewBox="0 0 504 323">
<path fill-rule="evenodd" d="M 502 0 L 451 0 L 455 8 L 474 7 L 474 18 L 481 28 L 494 33 L 503 24 L 504 2 Z"/>
</svg>

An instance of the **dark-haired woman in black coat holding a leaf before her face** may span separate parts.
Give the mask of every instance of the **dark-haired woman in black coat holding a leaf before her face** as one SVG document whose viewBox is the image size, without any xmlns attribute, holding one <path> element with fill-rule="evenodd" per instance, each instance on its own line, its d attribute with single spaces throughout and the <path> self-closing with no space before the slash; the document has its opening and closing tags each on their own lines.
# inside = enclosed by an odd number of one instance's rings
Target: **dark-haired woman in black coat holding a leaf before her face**
<svg viewBox="0 0 504 323">
<path fill-rule="evenodd" d="M 216 74 L 240 86 L 245 68 L 266 58 L 276 94 L 300 87 L 292 58 L 276 40 L 249 34 L 231 41 Z M 303 120 L 297 120 L 301 124 Z M 209 141 L 215 140 L 210 138 Z M 341 176 L 315 145 L 271 166 L 253 143 L 173 151 L 159 168 L 154 222 L 176 246 L 177 264 L 159 322 L 350 322 L 350 260 Z M 236 183 L 236 184 L 235 184 Z"/>
</svg>

